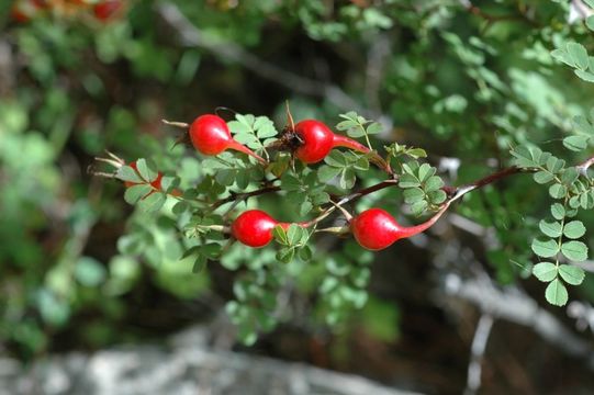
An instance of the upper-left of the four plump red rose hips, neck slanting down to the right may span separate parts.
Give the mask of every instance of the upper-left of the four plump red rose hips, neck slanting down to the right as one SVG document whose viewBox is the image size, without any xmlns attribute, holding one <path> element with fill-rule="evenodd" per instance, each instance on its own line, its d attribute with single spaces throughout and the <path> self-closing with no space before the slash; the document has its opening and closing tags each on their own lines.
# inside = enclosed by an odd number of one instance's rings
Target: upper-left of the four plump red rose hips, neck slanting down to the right
<svg viewBox="0 0 594 395">
<path fill-rule="evenodd" d="M 190 139 L 195 149 L 204 155 L 218 155 L 226 149 L 235 149 L 253 156 L 266 165 L 266 160 L 251 149 L 237 143 L 231 135 L 226 122 L 216 115 L 201 115 L 190 125 Z"/>
</svg>

